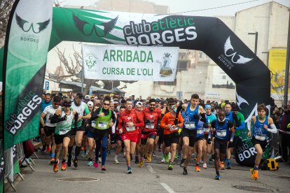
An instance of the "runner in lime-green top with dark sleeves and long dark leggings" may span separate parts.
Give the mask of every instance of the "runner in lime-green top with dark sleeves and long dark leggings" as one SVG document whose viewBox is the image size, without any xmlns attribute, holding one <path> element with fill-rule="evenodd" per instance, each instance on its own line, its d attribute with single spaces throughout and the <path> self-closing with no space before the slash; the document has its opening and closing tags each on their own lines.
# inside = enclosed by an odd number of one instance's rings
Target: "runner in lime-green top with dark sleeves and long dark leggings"
<svg viewBox="0 0 290 193">
<path fill-rule="evenodd" d="M 109 109 L 110 98 L 106 98 L 103 101 L 103 107 L 98 108 L 90 121 L 92 122 L 92 127 L 88 131 L 88 137 L 95 138 L 96 149 L 95 149 L 95 162 L 94 166 L 97 168 L 99 164 L 97 163 L 99 157 L 99 150 L 101 148 L 102 141 L 102 166 L 101 170 L 106 171 L 105 162 L 106 162 L 106 143 L 108 142 L 108 136 L 110 132 L 110 127 L 113 126 L 113 123 L 116 121 L 115 113 L 113 110 Z M 112 120 L 112 121 L 111 121 Z"/>
</svg>

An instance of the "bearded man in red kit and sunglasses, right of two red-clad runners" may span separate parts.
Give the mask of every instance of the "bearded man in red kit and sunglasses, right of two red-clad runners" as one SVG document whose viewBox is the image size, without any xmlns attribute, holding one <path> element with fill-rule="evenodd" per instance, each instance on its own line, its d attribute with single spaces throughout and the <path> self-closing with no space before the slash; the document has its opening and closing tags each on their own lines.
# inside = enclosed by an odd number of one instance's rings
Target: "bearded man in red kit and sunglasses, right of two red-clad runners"
<svg viewBox="0 0 290 193">
<path fill-rule="evenodd" d="M 146 162 L 151 162 L 151 152 L 157 135 L 157 125 L 161 118 L 161 110 L 156 108 L 156 99 L 149 100 L 149 107 L 144 108 L 142 114 L 145 127 L 141 130 L 141 160 L 138 165 L 139 167 L 144 164 L 144 152 Z"/>
</svg>

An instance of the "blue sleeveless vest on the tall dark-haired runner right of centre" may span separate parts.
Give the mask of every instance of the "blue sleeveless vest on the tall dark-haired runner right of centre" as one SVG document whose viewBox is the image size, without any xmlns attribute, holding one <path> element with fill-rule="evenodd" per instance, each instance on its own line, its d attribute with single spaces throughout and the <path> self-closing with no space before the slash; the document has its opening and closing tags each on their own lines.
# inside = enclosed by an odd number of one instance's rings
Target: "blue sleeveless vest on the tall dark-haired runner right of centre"
<svg viewBox="0 0 290 193">
<path fill-rule="evenodd" d="M 199 119 L 193 118 L 193 115 L 195 114 L 199 115 L 198 113 L 199 107 L 200 106 L 198 105 L 196 106 L 195 110 L 191 110 L 191 103 L 188 103 L 186 110 L 184 111 L 184 113 L 181 114 L 184 117 L 184 124 L 183 124 L 184 128 L 196 130 L 196 126 L 198 125 Z"/>
</svg>

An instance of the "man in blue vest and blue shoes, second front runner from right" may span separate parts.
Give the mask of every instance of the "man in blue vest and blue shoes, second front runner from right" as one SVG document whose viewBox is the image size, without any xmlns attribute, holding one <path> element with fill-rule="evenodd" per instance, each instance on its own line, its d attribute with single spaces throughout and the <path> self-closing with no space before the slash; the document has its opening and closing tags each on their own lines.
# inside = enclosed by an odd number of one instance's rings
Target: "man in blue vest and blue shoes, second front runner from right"
<svg viewBox="0 0 290 193">
<path fill-rule="evenodd" d="M 226 111 L 219 110 L 218 120 L 213 120 L 211 124 L 212 132 L 214 132 L 214 167 L 216 169 L 216 180 L 220 180 L 219 167 L 223 167 L 221 164 L 226 156 L 226 148 L 228 138 L 230 143 L 233 142 L 234 127 L 230 120 L 226 120 Z M 231 132 L 230 132 L 231 131 Z M 212 132 L 209 132 L 207 143 L 212 143 Z"/>
</svg>

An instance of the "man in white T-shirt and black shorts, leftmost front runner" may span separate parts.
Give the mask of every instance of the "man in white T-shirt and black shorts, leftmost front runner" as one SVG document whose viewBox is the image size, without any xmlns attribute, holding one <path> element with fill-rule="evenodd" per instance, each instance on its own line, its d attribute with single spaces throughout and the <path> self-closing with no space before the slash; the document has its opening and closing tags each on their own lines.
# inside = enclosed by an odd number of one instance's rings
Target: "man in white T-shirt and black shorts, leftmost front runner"
<svg viewBox="0 0 290 193">
<path fill-rule="evenodd" d="M 53 104 L 50 106 L 46 106 L 46 108 L 44 108 L 43 112 L 41 113 L 41 125 L 44 128 L 44 132 L 46 133 L 46 145 L 50 145 L 51 142 L 53 142 L 53 145 L 51 147 L 51 158 L 50 158 L 50 164 L 55 163 L 55 138 L 53 137 L 53 134 L 55 133 L 55 124 L 52 124 L 50 122 L 50 118 L 53 117 L 53 115 L 55 114 L 55 111 L 57 110 L 57 108 L 61 108 L 60 107 L 60 101 L 62 99 L 60 98 L 60 96 L 55 96 L 53 97 Z M 46 122 L 44 123 L 44 118 L 46 118 Z M 49 153 L 50 151 L 48 151 Z"/>
</svg>

